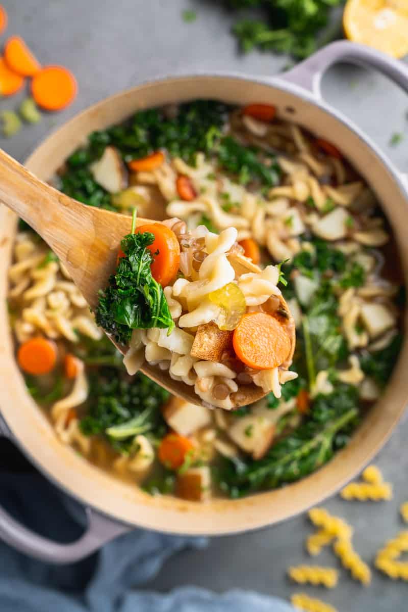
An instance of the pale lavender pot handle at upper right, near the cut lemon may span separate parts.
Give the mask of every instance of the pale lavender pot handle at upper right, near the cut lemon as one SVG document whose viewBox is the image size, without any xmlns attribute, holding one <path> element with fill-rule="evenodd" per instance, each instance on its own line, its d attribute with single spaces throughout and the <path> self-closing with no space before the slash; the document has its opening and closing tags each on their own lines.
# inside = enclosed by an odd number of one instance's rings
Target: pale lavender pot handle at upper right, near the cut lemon
<svg viewBox="0 0 408 612">
<path fill-rule="evenodd" d="M 292 70 L 280 75 L 275 81 L 286 81 L 313 94 L 317 102 L 323 100 L 321 83 L 326 70 L 337 62 L 351 62 L 378 70 L 394 81 L 408 94 L 408 65 L 390 58 L 381 51 L 349 40 L 336 42 L 316 51 L 310 58 L 297 64 Z M 399 173 L 401 182 L 408 193 L 408 173 Z"/>
</svg>

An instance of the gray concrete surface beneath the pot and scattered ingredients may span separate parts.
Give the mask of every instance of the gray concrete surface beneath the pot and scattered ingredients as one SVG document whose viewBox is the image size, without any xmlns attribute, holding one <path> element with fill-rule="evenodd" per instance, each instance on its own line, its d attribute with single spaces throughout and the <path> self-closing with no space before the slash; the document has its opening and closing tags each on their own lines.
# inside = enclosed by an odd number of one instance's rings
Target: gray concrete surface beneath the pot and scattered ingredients
<svg viewBox="0 0 408 612">
<path fill-rule="evenodd" d="M 228 33 L 231 18 L 216 0 L 2 0 L 9 13 L 7 34 L 20 34 L 43 64 L 64 64 L 79 83 L 75 103 L 58 114 L 48 114 L 0 146 L 24 159 L 42 138 L 87 105 L 128 88 L 138 81 L 177 70 L 241 70 L 247 74 L 274 74 L 288 59 L 253 53 L 239 56 Z M 197 11 L 195 23 L 182 21 L 182 9 Z M 3 39 L 6 39 L 3 35 Z M 350 66 L 331 70 L 324 81 L 329 102 L 366 130 L 400 168 L 408 168 L 408 98 L 385 78 Z M 14 108 L 24 94 L 0 100 L 0 111 Z M 393 132 L 405 141 L 390 147 Z M 402 420 L 377 463 L 395 485 L 393 501 L 358 504 L 333 498 L 328 509 L 355 527 L 355 546 L 366 561 L 402 523 L 398 506 L 408 499 L 406 439 Z M 287 503 L 290 504 L 290 498 Z M 262 531 L 213 539 L 207 550 L 187 551 L 165 565 L 149 588 L 166 591 L 181 584 L 225 591 L 253 589 L 288 597 L 294 586 L 285 578 L 288 565 L 308 561 L 303 540 L 311 531 L 306 517 Z M 330 552 L 319 562 L 337 566 Z M 302 589 L 303 590 L 303 589 Z M 342 570 L 332 592 L 306 588 L 321 595 L 341 612 L 407 610 L 407 586 L 374 572 L 373 584 L 363 588 Z"/>
</svg>

